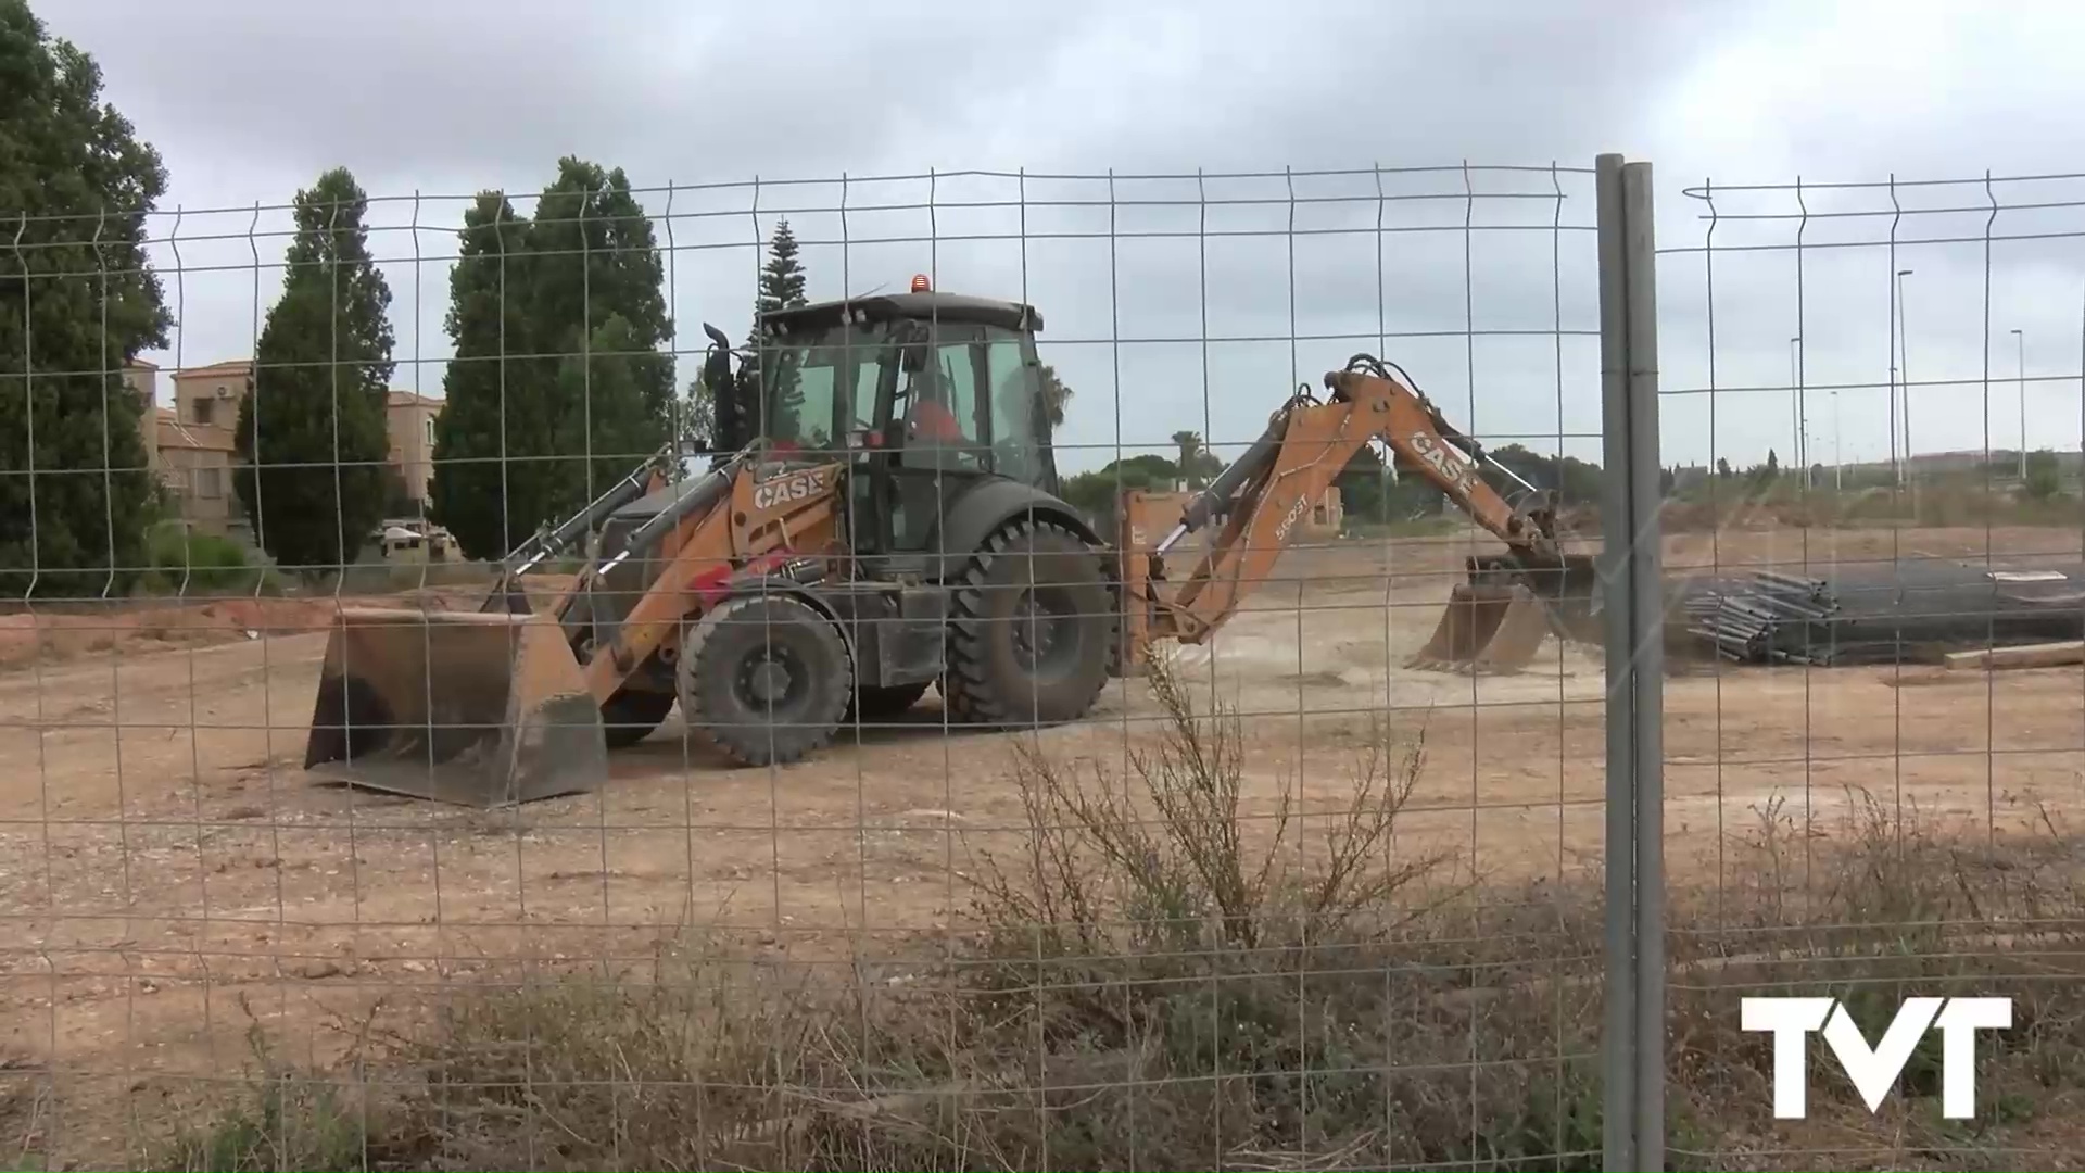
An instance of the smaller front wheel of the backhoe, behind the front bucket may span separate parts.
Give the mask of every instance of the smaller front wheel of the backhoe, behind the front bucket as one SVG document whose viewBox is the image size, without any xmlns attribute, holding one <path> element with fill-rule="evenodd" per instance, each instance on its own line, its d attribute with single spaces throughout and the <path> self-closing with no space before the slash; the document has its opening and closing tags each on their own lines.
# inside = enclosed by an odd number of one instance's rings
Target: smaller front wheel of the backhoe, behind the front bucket
<svg viewBox="0 0 2085 1173">
<path fill-rule="evenodd" d="M 688 733 L 742 766 L 821 749 L 855 693 L 840 628 L 794 595 L 726 599 L 688 632 L 680 712 Z"/>
</svg>

